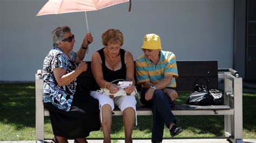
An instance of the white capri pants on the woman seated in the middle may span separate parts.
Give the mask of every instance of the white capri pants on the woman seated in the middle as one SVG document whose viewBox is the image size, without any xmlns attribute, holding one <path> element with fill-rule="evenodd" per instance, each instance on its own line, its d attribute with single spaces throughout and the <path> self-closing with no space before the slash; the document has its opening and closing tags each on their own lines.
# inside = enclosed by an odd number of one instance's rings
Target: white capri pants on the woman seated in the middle
<svg viewBox="0 0 256 143">
<path fill-rule="evenodd" d="M 125 96 L 117 96 L 114 98 L 110 98 L 109 95 L 102 94 L 98 91 L 91 91 L 90 95 L 98 99 L 99 101 L 99 110 L 100 110 L 100 121 L 102 122 L 102 106 L 105 104 L 109 104 L 111 106 L 112 111 L 114 110 L 114 105 L 118 106 L 118 108 L 123 112 L 126 108 L 133 108 L 135 111 L 135 119 L 137 126 L 137 112 L 136 112 L 136 98 L 135 95 L 125 95 Z"/>
</svg>

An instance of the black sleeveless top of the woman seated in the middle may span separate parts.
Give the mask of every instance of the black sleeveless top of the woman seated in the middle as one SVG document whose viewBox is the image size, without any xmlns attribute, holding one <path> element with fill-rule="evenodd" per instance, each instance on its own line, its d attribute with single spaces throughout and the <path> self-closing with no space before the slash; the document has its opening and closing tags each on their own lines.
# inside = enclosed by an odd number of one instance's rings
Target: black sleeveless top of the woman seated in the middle
<svg viewBox="0 0 256 143">
<path fill-rule="evenodd" d="M 124 49 L 120 49 L 122 67 L 116 71 L 113 71 L 106 67 L 105 55 L 104 55 L 103 49 L 104 48 L 100 49 L 97 52 L 99 53 L 100 58 L 102 59 L 102 72 L 103 72 L 104 80 L 106 80 L 107 82 L 112 82 L 117 79 L 125 80 L 126 79 L 126 66 L 125 66 L 125 62 L 124 62 L 124 54 L 126 51 Z"/>
</svg>

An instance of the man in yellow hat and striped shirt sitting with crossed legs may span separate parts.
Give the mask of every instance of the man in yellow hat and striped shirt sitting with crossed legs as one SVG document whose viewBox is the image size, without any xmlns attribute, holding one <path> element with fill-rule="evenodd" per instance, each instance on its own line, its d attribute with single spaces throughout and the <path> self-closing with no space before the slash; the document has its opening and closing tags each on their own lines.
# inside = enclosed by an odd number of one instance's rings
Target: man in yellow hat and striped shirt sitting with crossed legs
<svg viewBox="0 0 256 143">
<path fill-rule="evenodd" d="M 140 102 L 151 107 L 153 112 L 152 142 L 163 140 L 164 124 L 172 137 L 183 131 L 176 126 L 176 118 L 170 110 L 178 97 L 173 89 L 178 77 L 176 57 L 161 49 L 160 37 L 146 34 L 142 45 L 144 54 L 136 60 L 137 83 L 143 88 Z"/>
</svg>

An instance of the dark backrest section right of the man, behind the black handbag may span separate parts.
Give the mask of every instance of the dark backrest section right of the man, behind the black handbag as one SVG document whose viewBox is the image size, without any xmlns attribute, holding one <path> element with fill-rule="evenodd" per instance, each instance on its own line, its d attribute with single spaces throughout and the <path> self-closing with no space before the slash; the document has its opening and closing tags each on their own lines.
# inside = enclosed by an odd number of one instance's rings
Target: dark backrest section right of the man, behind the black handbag
<svg viewBox="0 0 256 143">
<path fill-rule="evenodd" d="M 177 61 L 177 91 L 193 91 L 194 85 L 218 89 L 218 61 Z"/>
</svg>

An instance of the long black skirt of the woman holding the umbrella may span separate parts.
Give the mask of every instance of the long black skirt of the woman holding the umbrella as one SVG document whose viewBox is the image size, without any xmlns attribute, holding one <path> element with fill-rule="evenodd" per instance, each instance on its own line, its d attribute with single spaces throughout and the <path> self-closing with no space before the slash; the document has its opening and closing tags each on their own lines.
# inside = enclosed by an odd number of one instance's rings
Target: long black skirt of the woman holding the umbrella
<svg viewBox="0 0 256 143">
<path fill-rule="evenodd" d="M 52 103 L 44 103 L 44 108 L 49 110 L 54 135 L 85 138 L 100 129 L 99 102 L 89 92 L 77 91 L 70 111 L 60 110 Z"/>
</svg>

